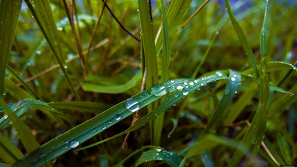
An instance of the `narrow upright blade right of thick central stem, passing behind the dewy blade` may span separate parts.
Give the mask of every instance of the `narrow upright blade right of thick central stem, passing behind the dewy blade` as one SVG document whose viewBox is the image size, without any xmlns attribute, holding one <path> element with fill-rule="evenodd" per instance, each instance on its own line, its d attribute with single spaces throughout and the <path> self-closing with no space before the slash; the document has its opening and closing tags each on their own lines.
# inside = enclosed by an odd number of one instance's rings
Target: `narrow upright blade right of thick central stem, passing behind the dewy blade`
<svg viewBox="0 0 297 167">
<path fill-rule="evenodd" d="M 171 59 L 171 49 L 169 42 L 169 33 L 166 21 L 165 7 L 163 4 L 163 0 L 161 1 L 161 10 L 162 10 L 162 30 L 163 30 L 163 55 L 162 55 L 162 72 L 161 72 L 161 83 L 165 83 L 169 79 L 169 65 Z M 164 102 L 167 99 L 166 96 L 161 98 L 161 102 Z M 156 122 L 154 124 L 154 145 L 160 145 L 161 140 L 161 132 L 164 121 L 164 114 L 161 113 L 160 116 L 156 118 Z"/>
</svg>

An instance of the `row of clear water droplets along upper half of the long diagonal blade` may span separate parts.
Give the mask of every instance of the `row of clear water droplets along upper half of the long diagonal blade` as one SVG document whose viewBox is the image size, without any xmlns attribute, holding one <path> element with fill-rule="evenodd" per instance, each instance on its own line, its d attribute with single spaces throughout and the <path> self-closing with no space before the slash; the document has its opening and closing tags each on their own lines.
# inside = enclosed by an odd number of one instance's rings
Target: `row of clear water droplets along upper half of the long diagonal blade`
<svg viewBox="0 0 297 167">
<path fill-rule="evenodd" d="M 223 73 L 216 72 L 216 74 L 214 75 L 202 77 L 201 79 L 186 80 L 181 84 L 175 84 L 175 80 L 171 80 L 163 84 L 156 84 L 152 86 L 152 88 L 150 88 L 149 91 L 145 91 L 139 97 L 142 98 L 143 95 L 148 95 L 147 92 L 149 92 L 151 95 L 154 95 L 156 97 L 163 97 L 168 93 L 172 92 L 173 90 L 182 91 L 182 94 L 186 96 L 189 93 L 188 88 L 190 88 L 191 86 L 194 86 L 195 84 L 200 83 L 200 86 L 198 88 L 198 90 L 200 90 L 201 86 L 205 86 L 209 82 L 216 81 L 216 79 L 214 78 L 222 77 L 222 76 L 223 76 Z M 176 94 L 175 96 L 177 97 L 178 95 Z M 138 100 L 134 99 L 133 97 L 125 101 L 125 106 L 131 112 L 135 112 L 140 109 Z"/>
</svg>

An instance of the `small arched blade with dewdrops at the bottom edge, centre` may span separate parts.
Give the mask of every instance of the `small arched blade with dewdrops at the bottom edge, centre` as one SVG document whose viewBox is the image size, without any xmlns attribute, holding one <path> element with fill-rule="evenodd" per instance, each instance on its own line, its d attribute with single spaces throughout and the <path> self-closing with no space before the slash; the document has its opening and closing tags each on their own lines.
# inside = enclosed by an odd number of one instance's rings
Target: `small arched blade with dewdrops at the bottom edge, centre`
<svg viewBox="0 0 297 167">
<path fill-rule="evenodd" d="M 136 161 L 135 166 L 139 166 L 147 161 L 163 161 L 170 166 L 178 167 L 182 159 L 175 152 L 168 152 L 163 149 L 152 149 L 143 152 Z"/>
</svg>

